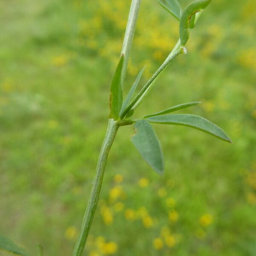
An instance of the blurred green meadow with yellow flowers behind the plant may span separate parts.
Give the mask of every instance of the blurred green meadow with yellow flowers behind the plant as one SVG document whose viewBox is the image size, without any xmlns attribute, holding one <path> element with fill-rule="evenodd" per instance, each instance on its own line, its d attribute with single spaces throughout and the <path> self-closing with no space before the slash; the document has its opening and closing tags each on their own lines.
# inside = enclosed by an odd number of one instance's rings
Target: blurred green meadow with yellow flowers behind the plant
<svg viewBox="0 0 256 256">
<path fill-rule="evenodd" d="M 108 119 L 109 88 L 130 0 L 0 1 L 0 233 L 33 253 L 71 255 Z M 183 8 L 189 1 L 180 0 Z M 214 0 L 137 117 L 182 113 L 219 125 L 233 144 L 154 125 L 160 177 L 122 127 L 84 255 L 249 256 L 256 252 L 256 1 Z M 178 23 L 143 0 L 125 93 L 169 54 Z M 0 252 L 0 255 L 9 255 Z"/>
</svg>

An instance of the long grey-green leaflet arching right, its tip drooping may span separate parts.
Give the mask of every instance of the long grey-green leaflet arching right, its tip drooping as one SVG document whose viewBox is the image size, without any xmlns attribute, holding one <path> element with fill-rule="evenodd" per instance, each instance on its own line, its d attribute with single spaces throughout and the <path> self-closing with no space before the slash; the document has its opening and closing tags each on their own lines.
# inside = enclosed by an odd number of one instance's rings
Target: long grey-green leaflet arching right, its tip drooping
<svg viewBox="0 0 256 256">
<path fill-rule="evenodd" d="M 221 128 L 201 116 L 188 114 L 172 114 L 164 116 L 152 116 L 148 117 L 146 120 L 148 122 L 157 124 L 189 126 L 200 131 L 204 131 L 208 134 L 212 134 L 213 136 L 221 140 L 232 143 L 230 138 Z"/>
</svg>

